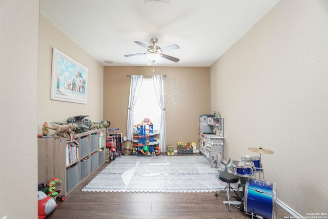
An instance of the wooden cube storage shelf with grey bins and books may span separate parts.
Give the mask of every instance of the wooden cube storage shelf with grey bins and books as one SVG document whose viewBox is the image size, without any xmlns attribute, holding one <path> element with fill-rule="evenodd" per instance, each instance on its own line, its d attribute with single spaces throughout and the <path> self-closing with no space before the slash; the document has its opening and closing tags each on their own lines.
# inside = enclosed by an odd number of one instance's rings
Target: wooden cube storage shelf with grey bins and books
<svg viewBox="0 0 328 219">
<path fill-rule="evenodd" d="M 85 178 L 105 163 L 105 129 L 76 134 L 69 138 L 39 137 L 38 183 L 57 177 L 56 188 L 68 195 Z"/>
</svg>

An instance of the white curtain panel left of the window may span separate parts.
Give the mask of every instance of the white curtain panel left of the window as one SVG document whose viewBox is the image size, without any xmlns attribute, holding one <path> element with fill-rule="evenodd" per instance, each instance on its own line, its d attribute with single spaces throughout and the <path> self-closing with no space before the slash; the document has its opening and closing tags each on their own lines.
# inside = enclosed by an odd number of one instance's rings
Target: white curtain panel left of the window
<svg viewBox="0 0 328 219">
<path fill-rule="evenodd" d="M 128 124 L 127 124 L 127 139 L 133 141 L 133 121 L 132 121 L 132 109 L 137 101 L 139 91 L 142 84 L 142 75 L 130 75 L 130 95 L 128 106 Z"/>
</svg>

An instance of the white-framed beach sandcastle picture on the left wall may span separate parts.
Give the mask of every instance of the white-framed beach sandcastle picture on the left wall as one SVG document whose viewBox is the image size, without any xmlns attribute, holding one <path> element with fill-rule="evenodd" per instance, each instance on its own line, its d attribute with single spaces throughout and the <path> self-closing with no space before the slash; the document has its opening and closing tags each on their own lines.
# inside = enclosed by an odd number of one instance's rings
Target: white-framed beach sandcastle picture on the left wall
<svg viewBox="0 0 328 219">
<path fill-rule="evenodd" d="M 52 49 L 51 99 L 87 104 L 88 68 Z"/>
</svg>

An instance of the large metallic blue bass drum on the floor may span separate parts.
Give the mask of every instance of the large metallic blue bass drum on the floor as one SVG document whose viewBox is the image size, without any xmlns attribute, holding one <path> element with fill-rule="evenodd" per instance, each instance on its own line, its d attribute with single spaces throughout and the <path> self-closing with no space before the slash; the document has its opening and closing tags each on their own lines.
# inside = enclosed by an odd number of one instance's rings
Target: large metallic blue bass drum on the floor
<svg viewBox="0 0 328 219">
<path fill-rule="evenodd" d="M 259 218 L 276 219 L 276 184 L 248 178 L 245 184 L 244 211 Z"/>
</svg>

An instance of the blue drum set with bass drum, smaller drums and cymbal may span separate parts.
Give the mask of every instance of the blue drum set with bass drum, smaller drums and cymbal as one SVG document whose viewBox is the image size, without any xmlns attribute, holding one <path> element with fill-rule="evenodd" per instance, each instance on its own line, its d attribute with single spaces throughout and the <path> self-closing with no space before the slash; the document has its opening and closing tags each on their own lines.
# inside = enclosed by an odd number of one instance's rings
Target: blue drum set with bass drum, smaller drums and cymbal
<svg viewBox="0 0 328 219">
<path fill-rule="evenodd" d="M 264 169 L 261 163 L 261 154 L 273 154 L 274 152 L 264 148 L 248 149 L 259 153 L 260 156 L 242 157 L 240 160 L 233 161 L 233 174 L 238 176 L 242 185 L 242 189 L 239 188 L 239 190 L 244 191 L 242 197 L 237 195 L 237 200 L 239 198 L 241 202 L 235 202 L 242 206 L 235 207 L 241 210 L 243 207 L 244 212 L 252 215 L 252 218 L 255 216 L 276 219 L 276 184 L 264 180 Z M 227 204 L 227 202 L 223 203 Z"/>
</svg>

